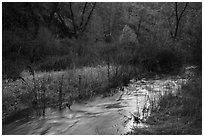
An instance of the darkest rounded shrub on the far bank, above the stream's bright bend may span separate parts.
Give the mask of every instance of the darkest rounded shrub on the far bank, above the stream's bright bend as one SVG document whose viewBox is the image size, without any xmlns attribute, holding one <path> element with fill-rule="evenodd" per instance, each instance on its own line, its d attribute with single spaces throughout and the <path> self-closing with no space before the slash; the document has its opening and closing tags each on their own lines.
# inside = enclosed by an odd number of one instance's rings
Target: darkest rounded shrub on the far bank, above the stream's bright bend
<svg viewBox="0 0 204 137">
<path fill-rule="evenodd" d="M 134 54 L 128 59 L 128 64 L 141 65 L 144 70 L 156 73 L 177 71 L 181 68 L 182 63 L 182 53 L 179 51 L 154 45 L 137 46 Z"/>
</svg>

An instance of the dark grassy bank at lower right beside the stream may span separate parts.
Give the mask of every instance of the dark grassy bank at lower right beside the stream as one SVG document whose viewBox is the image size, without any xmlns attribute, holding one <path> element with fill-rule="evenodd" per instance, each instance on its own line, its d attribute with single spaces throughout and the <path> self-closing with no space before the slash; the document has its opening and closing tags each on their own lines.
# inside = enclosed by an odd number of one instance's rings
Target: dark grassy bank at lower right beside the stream
<svg viewBox="0 0 204 137">
<path fill-rule="evenodd" d="M 163 96 L 146 123 L 129 134 L 202 134 L 202 78 L 196 76 L 183 85 L 177 95 Z"/>
</svg>

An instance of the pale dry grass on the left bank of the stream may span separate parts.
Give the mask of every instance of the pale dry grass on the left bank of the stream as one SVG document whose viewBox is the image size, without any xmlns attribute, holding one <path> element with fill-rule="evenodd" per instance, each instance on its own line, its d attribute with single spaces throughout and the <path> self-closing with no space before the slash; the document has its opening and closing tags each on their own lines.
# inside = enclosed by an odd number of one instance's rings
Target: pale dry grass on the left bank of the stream
<svg viewBox="0 0 204 137">
<path fill-rule="evenodd" d="M 4 80 L 3 118 L 19 110 L 33 107 L 36 103 L 34 102 L 35 92 L 38 96 L 38 104 L 40 105 L 46 100 L 46 106 L 58 104 L 59 90 L 62 90 L 63 102 L 67 102 L 70 98 L 83 101 L 97 94 L 106 94 L 109 92 L 107 89 L 111 83 L 108 81 L 107 71 L 107 66 L 97 66 L 57 72 L 36 72 L 35 84 L 32 76 L 27 72 L 21 74 L 26 82 Z M 115 67 L 113 66 L 110 67 L 110 77 L 115 77 Z M 115 81 L 117 82 L 117 80 Z M 44 91 L 45 96 L 43 95 Z"/>
</svg>

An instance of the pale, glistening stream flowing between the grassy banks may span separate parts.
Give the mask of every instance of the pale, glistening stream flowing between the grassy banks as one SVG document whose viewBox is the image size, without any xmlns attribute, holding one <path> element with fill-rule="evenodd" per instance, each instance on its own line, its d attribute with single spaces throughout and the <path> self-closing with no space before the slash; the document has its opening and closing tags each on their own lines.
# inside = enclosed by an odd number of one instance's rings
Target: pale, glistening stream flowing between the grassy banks
<svg viewBox="0 0 204 137">
<path fill-rule="evenodd" d="M 133 127 L 148 127 L 145 119 L 160 97 L 175 94 L 186 81 L 179 77 L 131 80 L 111 97 L 75 103 L 70 110 L 47 108 L 44 117 L 30 116 L 3 124 L 3 134 L 125 134 Z"/>
</svg>

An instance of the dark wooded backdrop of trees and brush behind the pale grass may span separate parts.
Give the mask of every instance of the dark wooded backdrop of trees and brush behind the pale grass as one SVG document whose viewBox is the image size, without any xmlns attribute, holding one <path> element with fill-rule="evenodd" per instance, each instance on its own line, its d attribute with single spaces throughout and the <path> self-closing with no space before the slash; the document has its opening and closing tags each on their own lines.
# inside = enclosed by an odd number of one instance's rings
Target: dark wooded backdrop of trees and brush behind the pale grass
<svg viewBox="0 0 204 137">
<path fill-rule="evenodd" d="M 42 70 L 59 70 L 70 60 L 72 66 L 128 60 L 164 71 L 182 64 L 181 54 L 184 63 L 201 66 L 201 26 L 200 3 L 3 3 L 3 62 L 25 62 L 22 71 L 38 63 Z M 59 59 L 47 60 L 53 56 Z"/>
</svg>

